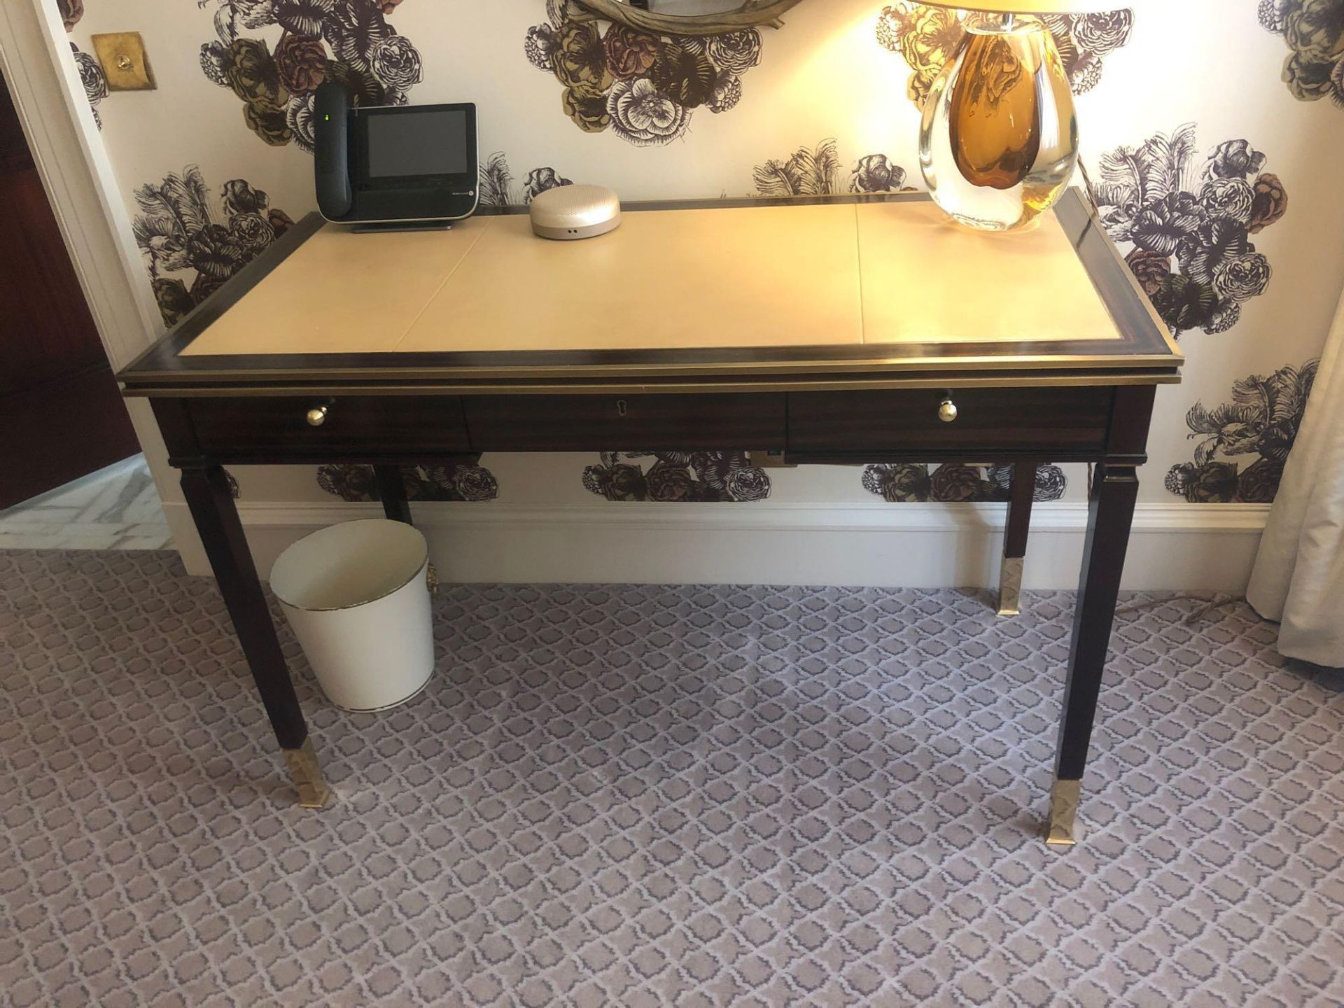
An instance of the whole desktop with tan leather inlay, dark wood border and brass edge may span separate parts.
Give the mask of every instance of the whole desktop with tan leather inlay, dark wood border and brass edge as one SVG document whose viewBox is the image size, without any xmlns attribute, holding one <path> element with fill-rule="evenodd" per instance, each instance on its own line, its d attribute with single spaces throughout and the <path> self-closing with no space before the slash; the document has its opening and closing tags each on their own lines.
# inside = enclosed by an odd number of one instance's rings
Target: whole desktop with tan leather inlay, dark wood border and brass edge
<svg viewBox="0 0 1344 1008">
<path fill-rule="evenodd" d="M 312 214 L 118 378 L 129 395 L 1133 384 L 1181 363 L 1070 191 L 1012 234 L 923 194 L 636 204 L 581 242 L 536 238 L 521 208 L 418 234 Z"/>
</svg>

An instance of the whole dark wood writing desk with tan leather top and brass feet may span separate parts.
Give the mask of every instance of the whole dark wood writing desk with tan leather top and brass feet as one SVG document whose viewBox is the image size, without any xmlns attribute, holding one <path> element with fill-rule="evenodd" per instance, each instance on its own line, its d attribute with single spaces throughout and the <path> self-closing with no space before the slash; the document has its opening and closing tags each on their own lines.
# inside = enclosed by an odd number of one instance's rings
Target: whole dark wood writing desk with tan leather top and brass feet
<svg viewBox="0 0 1344 1008">
<path fill-rule="evenodd" d="M 1036 466 L 1093 462 L 1050 839 L 1074 813 L 1145 461 L 1179 351 L 1082 196 L 981 234 L 922 195 L 638 204 L 586 242 L 489 211 L 355 235 L 310 215 L 121 372 L 149 396 L 305 805 L 319 769 L 228 464 L 481 452 L 770 450 L 1015 466 L 1016 612 Z"/>
</svg>

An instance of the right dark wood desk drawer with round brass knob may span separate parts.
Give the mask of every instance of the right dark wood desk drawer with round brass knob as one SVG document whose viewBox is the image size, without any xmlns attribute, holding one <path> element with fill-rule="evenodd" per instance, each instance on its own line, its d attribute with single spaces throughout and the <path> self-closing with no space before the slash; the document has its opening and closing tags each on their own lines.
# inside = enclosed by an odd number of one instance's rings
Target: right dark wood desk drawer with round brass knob
<svg viewBox="0 0 1344 1008">
<path fill-rule="evenodd" d="M 1106 445 L 1113 388 L 952 390 L 957 418 L 938 409 L 943 388 L 794 392 L 790 452 L 1001 452 L 1087 454 Z"/>
</svg>

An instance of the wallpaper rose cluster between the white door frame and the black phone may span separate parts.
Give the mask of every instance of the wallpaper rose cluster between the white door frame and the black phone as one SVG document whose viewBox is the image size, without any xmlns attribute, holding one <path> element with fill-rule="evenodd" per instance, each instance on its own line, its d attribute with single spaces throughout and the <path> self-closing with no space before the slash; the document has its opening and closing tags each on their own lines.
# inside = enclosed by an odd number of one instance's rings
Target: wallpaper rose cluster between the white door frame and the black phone
<svg viewBox="0 0 1344 1008">
<path fill-rule="evenodd" d="M 141 185 L 136 203 L 140 214 L 132 230 L 165 325 L 175 325 L 294 223 L 242 179 L 226 181 L 212 196 L 196 165 Z"/>
</svg>

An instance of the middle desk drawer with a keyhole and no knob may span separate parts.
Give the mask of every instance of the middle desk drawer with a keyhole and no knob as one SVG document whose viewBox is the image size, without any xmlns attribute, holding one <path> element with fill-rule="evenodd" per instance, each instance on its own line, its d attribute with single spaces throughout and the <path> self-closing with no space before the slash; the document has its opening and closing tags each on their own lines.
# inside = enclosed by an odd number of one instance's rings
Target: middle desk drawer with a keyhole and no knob
<svg viewBox="0 0 1344 1008">
<path fill-rule="evenodd" d="M 477 452 L 782 449 L 784 394 L 468 395 Z"/>
</svg>

